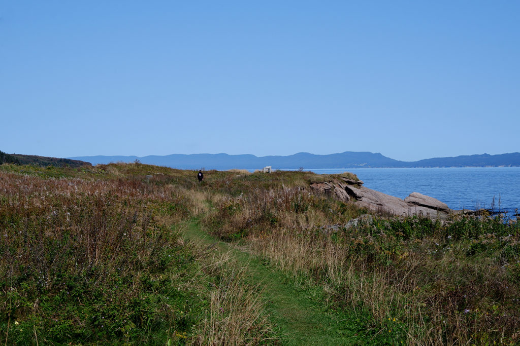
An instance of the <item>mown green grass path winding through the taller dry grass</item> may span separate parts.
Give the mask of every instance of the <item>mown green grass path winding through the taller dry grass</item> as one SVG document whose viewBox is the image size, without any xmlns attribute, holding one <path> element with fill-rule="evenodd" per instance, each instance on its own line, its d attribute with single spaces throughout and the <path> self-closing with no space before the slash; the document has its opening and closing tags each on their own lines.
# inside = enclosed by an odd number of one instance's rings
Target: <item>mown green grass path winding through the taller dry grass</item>
<svg viewBox="0 0 520 346">
<path fill-rule="evenodd" d="M 188 241 L 214 244 L 219 252 L 231 252 L 240 266 L 244 266 L 253 284 L 263 287 L 263 298 L 271 322 L 287 345 L 349 345 L 366 344 L 356 337 L 356 326 L 344 313 L 326 312 L 319 287 L 302 288 L 276 268 L 261 259 L 202 231 L 196 221 L 183 231 Z"/>
</svg>

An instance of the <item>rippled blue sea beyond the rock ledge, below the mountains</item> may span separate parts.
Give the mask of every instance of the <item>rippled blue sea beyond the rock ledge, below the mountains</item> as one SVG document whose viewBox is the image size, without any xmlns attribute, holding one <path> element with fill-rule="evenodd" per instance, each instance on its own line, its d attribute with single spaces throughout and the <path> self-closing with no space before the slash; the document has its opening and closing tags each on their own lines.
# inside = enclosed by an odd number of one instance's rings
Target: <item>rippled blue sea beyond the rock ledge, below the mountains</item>
<svg viewBox="0 0 520 346">
<path fill-rule="evenodd" d="M 451 209 L 493 209 L 513 217 L 520 210 L 520 167 L 305 169 L 316 174 L 351 172 L 363 186 L 406 198 L 434 197 Z"/>
</svg>

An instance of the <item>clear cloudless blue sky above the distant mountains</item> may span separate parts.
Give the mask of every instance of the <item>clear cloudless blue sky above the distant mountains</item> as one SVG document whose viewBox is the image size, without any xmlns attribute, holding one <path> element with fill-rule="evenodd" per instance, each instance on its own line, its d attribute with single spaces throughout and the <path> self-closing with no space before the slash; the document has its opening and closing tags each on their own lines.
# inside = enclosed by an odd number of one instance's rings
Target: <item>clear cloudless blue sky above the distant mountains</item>
<svg viewBox="0 0 520 346">
<path fill-rule="evenodd" d="M 0 150 L 520 151 L 518 1 L 0 0 Z"/>
</svg>

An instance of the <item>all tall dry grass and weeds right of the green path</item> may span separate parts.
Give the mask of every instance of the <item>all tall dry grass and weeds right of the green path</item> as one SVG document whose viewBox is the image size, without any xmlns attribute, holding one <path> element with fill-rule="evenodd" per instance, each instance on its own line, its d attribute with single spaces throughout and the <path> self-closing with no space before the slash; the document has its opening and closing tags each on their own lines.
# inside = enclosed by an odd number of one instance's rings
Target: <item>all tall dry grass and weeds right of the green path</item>
<svg viewBox="0 0 520 346">
<path fill-rule="evenodd" d="M 514 221 L 374 216 L 347 228 L 365 211 L 289 184 L 242 188 L 215 201 L 207 229 L 245 239 L 253 253 L 321 284 L 331 303 L 372 316 L 389 340 L 520 342 Z"/>
</svg>

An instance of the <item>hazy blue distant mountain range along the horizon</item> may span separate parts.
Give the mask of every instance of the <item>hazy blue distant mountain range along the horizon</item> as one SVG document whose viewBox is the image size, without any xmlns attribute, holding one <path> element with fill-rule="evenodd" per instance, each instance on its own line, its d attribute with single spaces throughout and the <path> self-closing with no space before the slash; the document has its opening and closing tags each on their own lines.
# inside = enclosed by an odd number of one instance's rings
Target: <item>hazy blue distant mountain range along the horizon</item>
<svg viewBox="0 0 520 346">
<path fill-rule="evenodd" d="M 500 155 L 464 155 L 440 157 L 407 162 L 388 158 L 368 151 L 345 151 L 330 155 L 297 153 L 289 156 L 228 155 L 228 154 L 173 154 L 165 156 L 80 156 L 69 159 L 92 164 L 110 162 L 134 162 L 161 165 L 178 169 L 228 170 L 261 169 L 319 169 L 319 168 L 412 168 L 412 167 L 501 167 L 520 166 L 520 153 Z"/>
</svg>

